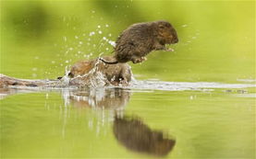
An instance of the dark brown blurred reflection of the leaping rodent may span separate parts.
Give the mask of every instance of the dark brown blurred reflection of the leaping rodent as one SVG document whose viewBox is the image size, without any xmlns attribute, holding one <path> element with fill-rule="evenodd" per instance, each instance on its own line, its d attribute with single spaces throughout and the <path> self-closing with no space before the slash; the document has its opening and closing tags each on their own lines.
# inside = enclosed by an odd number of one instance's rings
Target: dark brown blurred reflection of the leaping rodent
<svg viewBox="0 0 256 159">
<path fill-rule="evenodd" d="M 116 118 L 113 130 L 118 142 L 138 153 L 165 156 L 176 144 L 175 140 L 165 137 L 163 131 L 153 131 L 136 118 Z"/>
</svg>

